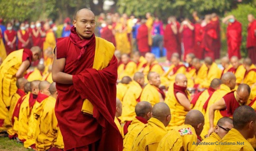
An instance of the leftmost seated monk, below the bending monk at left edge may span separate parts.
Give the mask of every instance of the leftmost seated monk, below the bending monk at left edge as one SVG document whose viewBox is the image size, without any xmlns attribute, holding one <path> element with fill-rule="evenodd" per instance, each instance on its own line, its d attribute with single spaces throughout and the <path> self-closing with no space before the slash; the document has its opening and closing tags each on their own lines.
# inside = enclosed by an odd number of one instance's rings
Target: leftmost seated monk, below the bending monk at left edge
<svg viewBox="0 0 256 151">
<path fill-rule="evenodd" d="M 20 98 L 23 98 L 26 93 L 24 90 L 25 84 L 28 82 L 25 78 L 19 78 L 16 81 L 17 91 L 14 93 L 8 100 L 6 101 L 8 104 L 6 104 L 6 107 L 8 109 L 8 114 L 3 122 L 3 127 L 7 128 L 7 132 L 9 135 L 15 135 L 13 131 L 13 123 L 12 123 L 12 115 L 14 112 L 14 108 Z"/>
</svg>

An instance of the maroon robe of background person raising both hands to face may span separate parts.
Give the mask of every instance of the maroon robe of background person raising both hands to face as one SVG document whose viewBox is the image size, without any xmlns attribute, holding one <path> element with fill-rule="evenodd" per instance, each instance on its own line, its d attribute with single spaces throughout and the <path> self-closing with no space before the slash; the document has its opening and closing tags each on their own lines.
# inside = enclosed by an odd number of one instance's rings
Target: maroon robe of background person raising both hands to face
<svg viewBox="0 0 256 151">
<path fill-rule="evenodd" d="M 192 26 L 194 24 L 191 23 Z M 183 60 L 186 59 L 186 55 L 188 53 L 194 53 L 194 30 L 191 30 L 187 27 L 187 25 L 184 25 L 183 31 L 182 31 L 182 42 L 184 45 L 184 56 Z"/>
</svg>

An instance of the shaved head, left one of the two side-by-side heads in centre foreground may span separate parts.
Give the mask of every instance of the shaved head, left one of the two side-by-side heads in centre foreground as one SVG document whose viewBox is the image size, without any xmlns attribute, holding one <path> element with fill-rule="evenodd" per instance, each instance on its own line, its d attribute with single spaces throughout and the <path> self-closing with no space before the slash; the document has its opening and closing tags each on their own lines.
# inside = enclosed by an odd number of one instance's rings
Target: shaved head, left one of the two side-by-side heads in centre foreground
<svg viewBox="0 0 256 151">
<path fill-rule="evenodd" d="M 148 114 L 148 112 L 152 112 L 152 105 L 147 101 L 141 101 L 135 106 L 136 116 L 144 117 Z"/>
</svg>

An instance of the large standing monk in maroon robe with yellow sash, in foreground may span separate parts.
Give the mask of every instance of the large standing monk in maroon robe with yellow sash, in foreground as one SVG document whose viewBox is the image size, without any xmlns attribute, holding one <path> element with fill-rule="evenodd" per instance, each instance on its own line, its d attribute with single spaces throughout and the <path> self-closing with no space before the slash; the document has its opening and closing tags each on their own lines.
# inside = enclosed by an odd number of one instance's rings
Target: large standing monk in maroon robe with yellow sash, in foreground
<svg viewBox="0 0 256 151">
<path fill-rule="evenodd" d="M 78 10 L 73 25 L 69 37 L 57 39 L 52 65 L 59 93 L 55 113 L 64 149 L 122 150 L 122 136 L 114 123 L 115 47 L 95 37 L 95 15 L 91 10 Z"/>
</svg>

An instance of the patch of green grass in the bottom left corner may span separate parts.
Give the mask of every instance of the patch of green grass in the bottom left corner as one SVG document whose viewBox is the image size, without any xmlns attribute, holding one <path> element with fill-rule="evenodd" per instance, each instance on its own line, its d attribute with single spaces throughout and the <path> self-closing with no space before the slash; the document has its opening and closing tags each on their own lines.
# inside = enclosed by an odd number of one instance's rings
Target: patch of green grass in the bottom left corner
<svg viewBox="0 0 256 151">
<path fill-rule="evenodd" d="M 0 151 L 32 151 L 32 149 L 26 149 L 22 143 L 10 140 L 8 137 L 0 137 Z"/>
</svg>

